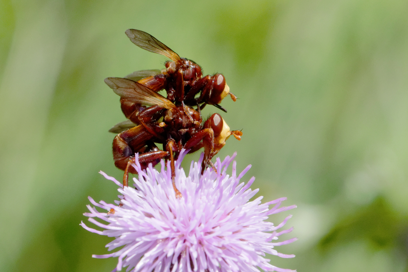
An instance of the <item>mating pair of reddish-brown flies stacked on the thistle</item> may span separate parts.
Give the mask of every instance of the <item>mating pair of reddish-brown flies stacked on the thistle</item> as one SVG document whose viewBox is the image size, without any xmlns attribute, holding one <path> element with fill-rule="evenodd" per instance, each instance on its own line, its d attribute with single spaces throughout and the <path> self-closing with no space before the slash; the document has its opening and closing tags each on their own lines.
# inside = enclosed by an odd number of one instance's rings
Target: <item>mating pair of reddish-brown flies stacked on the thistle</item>
<svg viewBox="0 0 408 272">
<path fill-rule="evenodd" d="M 239 130 L 231 131 L 218 113 L 203 122 L 202 108 L 210 104 L 226 112 L 220 102 L 227 95 L 233 101 L 237 97 L 229 91 L 222 74 L 202 77 L 198 64 L 180 57 L 152 35 L 136 29 L 128 29 L 125 33 L 137 46 L 170 60 L 163 70 L 142 70 L 125 78 L 105 79 L 121 97 L 122 112 L 128 119 L 109 130 L 119 133 L 113 139 L 115 166 L 124 170 L 123 185 L 128 186 L 129 172 L 137 174 L 131 166 L 135 163 L 135 153 L 139 153 L 142 169 L 149 163 L 154 166 L 160 159 L 169 159 L 173 188 L 176 197 L 180 198 L 181 193 L 175 186 L 174 160 L 182 148 L 193 153 L 204 147 L 202 173 L 209 166 L 216 171 L 212 157 L 231 135 L 238 140 L 242 136 Z M 167 97 L 157 93 L 162 89 L 166 90 Z M 156 144 L 162 144 L 163 150 Z"/>
</svg>

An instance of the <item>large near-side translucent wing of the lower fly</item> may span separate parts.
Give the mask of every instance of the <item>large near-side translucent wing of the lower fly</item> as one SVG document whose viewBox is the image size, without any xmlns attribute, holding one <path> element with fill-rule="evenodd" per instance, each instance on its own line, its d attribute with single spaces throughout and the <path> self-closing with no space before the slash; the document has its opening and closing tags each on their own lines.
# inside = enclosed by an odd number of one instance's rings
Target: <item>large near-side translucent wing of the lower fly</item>
<svg viewBox="0 0 408 272">
<path fill-rule="evenodd" d="M 113 89 L 117 95 L 131 102 L 141 105 L 159 105 L 163 108 L 175 108 L 175 104 L 166 97 L 152 91 L 140 83 L 120 77 L 107 77 L 105 83 Z"/>
</svg>

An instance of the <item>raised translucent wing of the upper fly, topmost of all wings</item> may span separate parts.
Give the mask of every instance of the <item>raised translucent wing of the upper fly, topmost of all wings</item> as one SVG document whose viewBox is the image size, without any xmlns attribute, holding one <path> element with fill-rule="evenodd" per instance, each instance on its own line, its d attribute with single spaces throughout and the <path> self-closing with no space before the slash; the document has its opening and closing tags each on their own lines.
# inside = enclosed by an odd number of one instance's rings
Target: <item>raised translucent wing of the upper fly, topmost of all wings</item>
<svg viewBox="0 0 408 272">
<path fill-rule="evenodd" d="M 144 50 L 165 55 L 171 60 L 180 61 L 180 56 L 165 44 L 154 38 L 149 33 L 137 29 L 128 29 L 125 31 L 129 39 Z"/>
</svg>

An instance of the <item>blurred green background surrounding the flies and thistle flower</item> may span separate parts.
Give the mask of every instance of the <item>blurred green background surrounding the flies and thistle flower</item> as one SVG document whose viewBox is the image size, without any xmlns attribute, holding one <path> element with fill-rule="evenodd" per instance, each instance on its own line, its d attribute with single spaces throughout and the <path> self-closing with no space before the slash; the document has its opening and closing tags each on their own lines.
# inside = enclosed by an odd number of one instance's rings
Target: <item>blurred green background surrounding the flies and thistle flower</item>
<svg viewBox="0 0 408 272">
<path fill-rule="evenodd" d="M 116 199 L 98 171 L 122 175 L 107 130 L 124 116 L 103 80 L 166 60 L 129 28 L 240 98 L 222 116 L 244 135 L 220 157 L 237 151 L 264 201 L 298 206 L 282 238 L 299 241 L 277 248 L 297 257 L 271 263 L 408 271 L 406 0 L 0 0 L 0 271 L 114 268 L 91 258 L 111 239 L 78 225 L 88 195 Z"/>
</svg>

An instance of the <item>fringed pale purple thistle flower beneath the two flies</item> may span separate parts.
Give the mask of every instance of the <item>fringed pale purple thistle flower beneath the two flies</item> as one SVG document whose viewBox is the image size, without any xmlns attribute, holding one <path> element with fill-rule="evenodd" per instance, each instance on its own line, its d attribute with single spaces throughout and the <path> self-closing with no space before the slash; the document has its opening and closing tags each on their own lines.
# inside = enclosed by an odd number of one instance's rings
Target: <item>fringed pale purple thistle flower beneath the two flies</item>
<svg viewBox="0 0 408 272">
<path fill-rule="evenodd" d="M 133 272 L 259 272 L 257 267 L 265 271 L 289 272 L 290 269 L 277 268 L 265 259 L 265 253 L 283 258 L 295 255 L 278 253 L 277 245 L 286 245 L 297 238 L 273 243 L 281 234 L 291 232 L 293 228 L 277 232 L 292 217 L 289 215 L 278 226 L 264 221 L 269 215 L 296 208 L 295 205 L 279 208 L 282 197 L 261 204 L 262 197 L 249 201 L 259 189 L 249 187 L 255 180 L 252 177 L 246 185 L 239 180 L 251 168 L 246 167 L 236 175 L 236 162 L 233 162 L 232 176 L 226 169 L 233 161 L 227 156 L 223 162 L 217 158 L 215 166 L 218 174 L 208 168 L 201 175 L 201 161 L 191 162 L 189 175 L 186 177 L 181 161 L 186 155 L 183 150 L 175 163 L 176 186 L 182 193 L 177 199 L 171 184 L 171 170 L 168 162 L 167 170 L 160 172 L 151 165 L 145 171 L 140 170 L 136 159 L 133 165 L 139 172 L 134 178 L 134 186 L 123 188 L 122 184 L 104 172 L 106 179 L 114 181 L 118 186 L 122 207 L 104 201 L 95 206 L 114 213 L 98 212 L 88 205 L 90 212 L 84 213 L 89 221 L 105 230 L 89 228 L 86 230 L 109 237 L 115 237 L 106 247 L 120 250 L 105 255 L 93 255 L 94 258 L 119 257 L 118 265 L 113 272 L 127 267 Z M 137 156 L 137 155 L 136 155 Z M 119 204 L 119 201 L 115 201 Z M 275 204 L 273 208 L 268 206 Z M 105 225 L 96 221 L 97 217 L 106 221 Z"/>
</svg>

